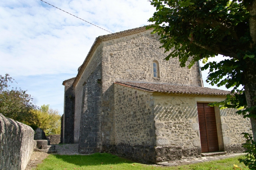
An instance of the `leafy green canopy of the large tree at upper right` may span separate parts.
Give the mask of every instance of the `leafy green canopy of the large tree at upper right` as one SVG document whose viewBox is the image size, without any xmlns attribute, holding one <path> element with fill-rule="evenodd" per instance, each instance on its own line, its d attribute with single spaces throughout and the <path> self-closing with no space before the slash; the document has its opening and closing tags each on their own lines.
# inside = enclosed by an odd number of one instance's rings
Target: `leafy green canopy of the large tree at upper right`
<svg viewBox="0 0 256 170">
<path fill-rule="evenodd" d="M 238 114 L 250 117 L 256 139 L 256 0 L 150 0 L 156 12 L 147 28 L 161 35 L 160 42 L 180 66 L 190 68 L 198 60 L 210 70 L 207 82 L 233 88 L 220 103 L 227 108 L 246 108 Z M 228 56 L 221 62 L 209 57 Z M 242 85 L 243 89 L 238 87 Z M 235 93 L 238 92 L 238 93 Z"/>
</svg>

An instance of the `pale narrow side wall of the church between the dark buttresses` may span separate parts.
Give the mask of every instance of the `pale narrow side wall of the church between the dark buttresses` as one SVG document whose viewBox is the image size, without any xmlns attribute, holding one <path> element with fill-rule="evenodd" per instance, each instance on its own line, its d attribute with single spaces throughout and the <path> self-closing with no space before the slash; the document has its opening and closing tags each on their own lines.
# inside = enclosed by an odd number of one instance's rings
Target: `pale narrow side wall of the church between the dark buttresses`
<svg viewBox="0 0 256 170">
<path fill-rule="evenodd" d="M 74 124 L 74 143 L 79 142 L 80 133 L 80 119 L 81 119 L 81 108 L 82 108 L 82 97 L 83 97 L 83 83 L 88 77 L 94 72 L 94 70 L 101 64 L 102 57 L 102 46 L 99 45 L 95 50 L 92 58 L 88 62 L 87 67 L 82 73 L 81 78 L 75 86 L 75 124 Z"/>
</svg>

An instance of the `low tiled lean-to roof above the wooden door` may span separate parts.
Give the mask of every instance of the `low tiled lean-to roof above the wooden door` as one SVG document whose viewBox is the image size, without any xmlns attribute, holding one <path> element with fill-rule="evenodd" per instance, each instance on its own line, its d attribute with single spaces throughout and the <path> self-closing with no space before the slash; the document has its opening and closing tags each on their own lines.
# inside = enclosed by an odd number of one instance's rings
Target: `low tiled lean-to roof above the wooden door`
<svg viewBox="0 0 256 170">
<path fill-rule="evenodd" d="M 123 81 L 117 81 L 115 83 L 120 84 L 122 86 L 132 87 L 132 88 L 136 88 L 144 91 L 160 92 L 160 93 L 217 95 L 217 96 L 226 96 L 227 94 L 230 94 L 230 91 L 211 89 L 207 87 L 160 84 L 160 83 L 145 83 L 145 82 L 123 82 Z"/>
</svg>

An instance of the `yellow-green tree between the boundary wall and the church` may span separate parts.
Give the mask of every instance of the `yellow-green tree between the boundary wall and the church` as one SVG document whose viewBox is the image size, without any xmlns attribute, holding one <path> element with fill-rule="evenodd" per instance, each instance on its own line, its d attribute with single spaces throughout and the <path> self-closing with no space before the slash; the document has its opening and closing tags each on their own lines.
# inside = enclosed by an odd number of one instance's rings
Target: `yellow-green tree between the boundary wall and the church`
<svg viewBox="0 0 256 170">
<path fill-rule="evenodd" d="M 43 105 L 40 109 L 31 111 L 33 123 L 38 125 L 46 135 L 60 134 L 61 116 L 58 110 L 49 108 L 49 105 Z"/>
</svg>

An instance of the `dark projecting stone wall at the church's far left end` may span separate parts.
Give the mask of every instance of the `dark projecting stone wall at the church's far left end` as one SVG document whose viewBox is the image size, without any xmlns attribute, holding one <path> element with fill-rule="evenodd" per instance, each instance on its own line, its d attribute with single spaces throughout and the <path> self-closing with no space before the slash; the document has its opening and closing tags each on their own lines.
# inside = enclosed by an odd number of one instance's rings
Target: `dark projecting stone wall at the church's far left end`
<svg viewBox="0 0 256 170">
<path fill-rule="evenodd" d="M 65 82 L 63 143 L 74 143 L 75 91 L 72 86 L 74 79 Z"/>
</svg>

